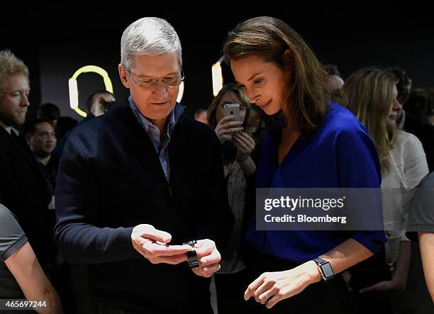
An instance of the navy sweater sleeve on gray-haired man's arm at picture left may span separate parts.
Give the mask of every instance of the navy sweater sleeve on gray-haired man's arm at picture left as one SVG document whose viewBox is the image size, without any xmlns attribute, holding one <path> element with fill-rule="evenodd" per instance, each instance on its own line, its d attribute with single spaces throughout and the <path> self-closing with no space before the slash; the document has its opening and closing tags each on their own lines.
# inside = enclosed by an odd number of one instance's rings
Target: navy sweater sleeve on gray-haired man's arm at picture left
<svg viewBox="0 0 434 314">
<path fill-rule="evenodd" d="M 72 263 L 104 263 L 139 258 L 131 228 L 99 228 L 91 224 L 99 205 L 96 174 L 82 143 L 72 134 L 57 174 L 55 240 Z"/>
</svg>

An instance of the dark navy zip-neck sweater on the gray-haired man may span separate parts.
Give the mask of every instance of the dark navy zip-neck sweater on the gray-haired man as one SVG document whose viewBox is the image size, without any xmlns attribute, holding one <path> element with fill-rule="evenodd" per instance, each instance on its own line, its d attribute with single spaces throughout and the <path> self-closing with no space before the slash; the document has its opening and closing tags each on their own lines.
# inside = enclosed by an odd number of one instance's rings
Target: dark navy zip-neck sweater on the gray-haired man
<svg viewBox="0 0 434 314">
<path fill-rule="evenodd" d="M 169 232 L 172 244 L 208 238 L 223 249 L 233 215 L 220 156 L 212 130 L 181 116 L 169 142 L 167 181 L 128 106 L 72 132 L 57 174 L 55 239 L 69 262 L 92 264 L 94 297 L 113 305 L 179 301 L 181 309 L 190 308 L 192 295 L 209 303 L 208 279 L 187 263 L 151 264 L 135 251 L 130 235 L 147 223 Z"/>
</svg>

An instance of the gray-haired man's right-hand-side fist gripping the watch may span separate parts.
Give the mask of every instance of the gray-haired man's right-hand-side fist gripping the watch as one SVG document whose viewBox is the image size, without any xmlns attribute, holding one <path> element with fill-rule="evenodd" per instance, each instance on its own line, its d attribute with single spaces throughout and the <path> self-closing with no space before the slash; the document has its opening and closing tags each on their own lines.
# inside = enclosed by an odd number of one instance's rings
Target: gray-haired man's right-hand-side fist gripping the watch
<svg viewBox="0 0 434 314">
<path fill-rule="evenodd" d="M 220 269 L 221 255 L 213 240 L 197 240 L 196 254 L 199 267 L 191 269 L 198 276 L 211 277 Z"/>
</svg>

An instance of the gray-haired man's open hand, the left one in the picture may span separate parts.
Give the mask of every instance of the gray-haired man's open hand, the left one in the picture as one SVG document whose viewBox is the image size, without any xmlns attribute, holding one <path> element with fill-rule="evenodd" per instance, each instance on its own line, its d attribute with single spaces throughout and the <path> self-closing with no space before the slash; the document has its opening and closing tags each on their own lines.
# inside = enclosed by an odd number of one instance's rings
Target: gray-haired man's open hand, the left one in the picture
<svg viewBox="0 0 434 314">
<path fill-rule="evenodd" d="M 186 253 L 192 248 L 189 245 L 168 245 L 170 240 L 172 235 L 157 230 L 152 225 L 137 225 L 131 232 L 133 247 L 152 264 L 174 265 L 187 261 Z"/>
</svg>

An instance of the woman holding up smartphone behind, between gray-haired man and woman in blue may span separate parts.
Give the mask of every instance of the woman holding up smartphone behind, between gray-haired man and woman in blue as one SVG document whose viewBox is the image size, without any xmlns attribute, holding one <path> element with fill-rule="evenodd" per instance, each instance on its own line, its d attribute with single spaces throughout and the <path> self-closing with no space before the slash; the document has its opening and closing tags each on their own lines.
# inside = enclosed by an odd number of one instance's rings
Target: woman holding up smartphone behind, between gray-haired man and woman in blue
<svg viewBox="0 0 434 314">
<path fill-rule="evenodd" d="M 243 298 L 247 280 L 243 239 L 255 200 L 257 149 L 254 133 L 258 118 L 237 84 L 226 84 L 208 108 L 209 125 L 222 143 L 223 172 L 228 201 L 235 216 L 228 249 L 222 256 L 216 281 L 218 313 L 245 313 Z"/>
</svg>

